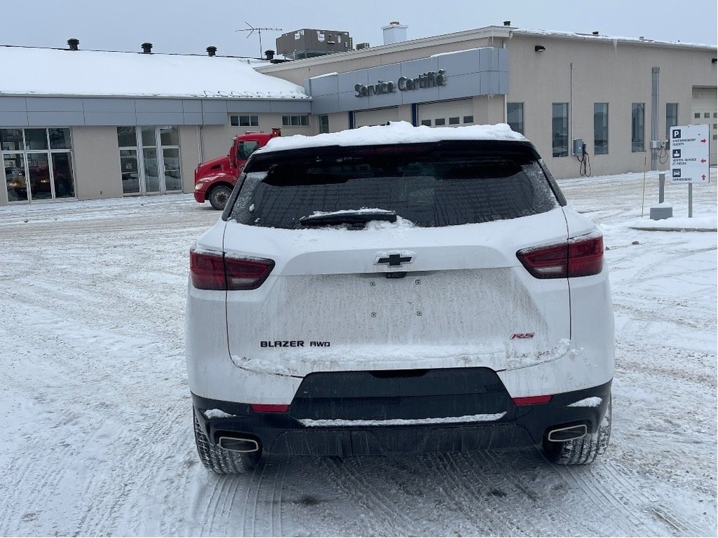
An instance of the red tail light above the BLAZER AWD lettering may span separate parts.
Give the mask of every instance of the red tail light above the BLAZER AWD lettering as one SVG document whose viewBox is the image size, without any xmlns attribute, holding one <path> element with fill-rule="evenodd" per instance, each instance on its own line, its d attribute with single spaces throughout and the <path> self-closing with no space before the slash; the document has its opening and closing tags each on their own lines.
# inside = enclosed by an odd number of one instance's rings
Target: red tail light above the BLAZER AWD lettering
<svg viewBox="0 0 718 538">
<path fill-rule="evenodd" d="M 264 283 L 274 261 L 230 258 L 220 253 L 190 250 L 192 285 L 201 290 L 254 290 Z"/>
</svg>

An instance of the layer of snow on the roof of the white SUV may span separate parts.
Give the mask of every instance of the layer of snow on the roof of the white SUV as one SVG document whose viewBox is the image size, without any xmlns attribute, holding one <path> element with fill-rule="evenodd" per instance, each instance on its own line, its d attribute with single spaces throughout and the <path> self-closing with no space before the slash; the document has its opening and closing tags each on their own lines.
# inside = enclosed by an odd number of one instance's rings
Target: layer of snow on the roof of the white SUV
<svg viewBox="0 0 718 538">
<path fill-rule="evenodd" d="M 442 140 L 515 140 L 526 137 L 511 131 L 506 123 L 465 127 L 414 127 L 406 121 L 392 121 L 388 126 L 365 126 L 338 133 L 316 136 L 281 136 L 272 138 L 257 151 L 314 148 L 317 146 L 376 146 L 381 144 L 439 142 Z"/>
</svg>

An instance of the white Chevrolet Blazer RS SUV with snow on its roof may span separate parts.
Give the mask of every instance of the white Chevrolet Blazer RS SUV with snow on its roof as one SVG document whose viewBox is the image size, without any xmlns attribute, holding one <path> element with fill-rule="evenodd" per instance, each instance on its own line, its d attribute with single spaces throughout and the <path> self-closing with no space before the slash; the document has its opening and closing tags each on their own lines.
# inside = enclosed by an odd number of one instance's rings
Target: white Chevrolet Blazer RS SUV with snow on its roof
<svg viewBox="0 0 718 538">
<path fill-rule="evenodd" d="M 274 138 L 190 252 L 202 463 L 610 435 L 602 235 L 506 125 Z"/>
</svg>

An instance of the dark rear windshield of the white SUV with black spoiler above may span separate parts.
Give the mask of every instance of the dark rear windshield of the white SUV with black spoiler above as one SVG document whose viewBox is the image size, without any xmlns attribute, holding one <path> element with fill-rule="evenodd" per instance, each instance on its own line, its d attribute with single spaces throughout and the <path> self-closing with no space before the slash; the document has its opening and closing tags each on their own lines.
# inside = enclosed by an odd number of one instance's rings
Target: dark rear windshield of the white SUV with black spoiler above
<svg viewBox="0 0 718 538">
<path fill-rule="evenodd" d="M 255 154 L 228 217 L 294 229 L 317 214 L 375 209 L 414 226 L 442 227 L 557 206 L 532 146 L 450 141 Z"/>
</svg>

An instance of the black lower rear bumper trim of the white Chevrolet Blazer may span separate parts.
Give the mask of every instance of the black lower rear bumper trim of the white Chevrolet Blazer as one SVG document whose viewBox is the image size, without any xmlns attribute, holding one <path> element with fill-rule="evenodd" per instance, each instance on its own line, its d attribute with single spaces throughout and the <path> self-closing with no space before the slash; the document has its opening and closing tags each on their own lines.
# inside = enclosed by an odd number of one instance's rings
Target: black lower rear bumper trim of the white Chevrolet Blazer
<svg viewBox="0 0 718 538">
<path fill-rule="evenodd" d="M 301 418 L 292 415 L 292 407 L 286 413 L 253 412 L 248 403 L 210 400 L 194 394 L 192 400 L 197 419 L 210 443 L 216 444 L 222 436 L 245 436 L 257 439 L 264 453 L 358 456 L 531 447 L 540 445 L 549 430 L 574 425 L 585 425 L 589 433 L 595 433 L 605 415 L 610 390 L 611 382 L 607 382 L 585 390 L 553 395 L 550 402 L 541 405 L 517 406 L 508 398 L 503 400 L 503 410 L 500 410 L 503 415 L 495 421 L 437 421 L 421 425 L 379 423 L 356 426 L 351 424 L 351 420 L 345 420 L 341 426 L 305 426 L 300 422 Z M 592 397 L 599 397 L 600 405 L 572 405 Z M 496 400 L 491 398 L 493 407 Z M 416 402 L 413 402 L 412 409 L 415 405 Z M 426 401 L 426 406 L 425 416 L 436 417 L 435 414 L 428 414 L 436 412 L 430 399 Z M 215 409 L 225 415 L 208 420 L 204 412 Z M 497 411 L 495 407 L 492 410 Z M 486 410 L 476 411 L 477 414 L 482 412 Z M 466 410 L 462 409 L 461 415 L 465 414 Z"/>
</svg>

